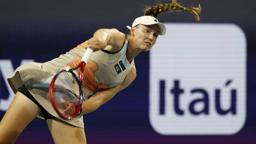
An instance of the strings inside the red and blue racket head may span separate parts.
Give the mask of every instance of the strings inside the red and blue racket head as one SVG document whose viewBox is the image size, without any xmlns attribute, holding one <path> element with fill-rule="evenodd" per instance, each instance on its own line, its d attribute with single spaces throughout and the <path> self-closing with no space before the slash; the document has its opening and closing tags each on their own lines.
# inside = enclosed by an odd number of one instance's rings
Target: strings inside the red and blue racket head
<svg viewBox="0 0 256 144">
<path fill-rule="evenodd" d="M 79 103 L 79 84 L 71 72 L 64 71 L 58 75 L 53 86 L 53 98 L 60 113 L 67 109 L 63 102 Z"/>
</svg>

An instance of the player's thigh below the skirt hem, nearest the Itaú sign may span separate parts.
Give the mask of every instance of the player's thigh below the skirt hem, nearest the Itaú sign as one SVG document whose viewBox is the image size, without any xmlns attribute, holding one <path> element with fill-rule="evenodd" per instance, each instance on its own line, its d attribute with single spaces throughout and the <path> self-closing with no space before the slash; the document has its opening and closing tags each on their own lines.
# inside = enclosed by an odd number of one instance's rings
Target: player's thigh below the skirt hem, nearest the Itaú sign
<svg viewBox="0 0 256 144">
<path fill-rule="evenodd" d="M 72 126 L 57 118 L 47 119 L 46 122 L 55 144 L 86 144 L 83 128 Z"/>
</svg>

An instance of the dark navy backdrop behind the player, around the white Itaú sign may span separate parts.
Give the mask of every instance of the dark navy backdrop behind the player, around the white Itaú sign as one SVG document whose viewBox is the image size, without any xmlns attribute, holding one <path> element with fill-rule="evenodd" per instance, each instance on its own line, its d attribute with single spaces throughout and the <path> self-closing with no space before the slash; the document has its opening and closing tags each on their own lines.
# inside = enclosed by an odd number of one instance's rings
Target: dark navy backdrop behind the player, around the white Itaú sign
<svg viewBox="0 0 256 144">
<path fill-rule="evenodd" d="M 135 58 L 137 77 L 125 90 L 93 113 L 83 115 L 87 143 L 256 143 L 256 1 L 178 0 L 184 7 L 202 6 L 201 20 L 187 12 L 162 13 L 163 23 L 235 24 L 246 37 L 246 120 L 232 135 L 162 135 L 149 120 L 150 52 Z M 171 3 L 155 0 L 130 1 L 2 1 L 0 4 L 0 118 L 11 97 L 6 77 L 23 63 L 43 63 L 88 40 L 101 28 L 128 34 L 135 18 L 146 6 Z M 173 28 L 175 29 L 175 28 Z M 172 30 L 168 29 L 169 33 Z M 175 36 L 175 32 L 173 33 Z M 164 36 L 162 36 L 164 37 Z M 167 39 L 167 37 L 165 37 Z M 155 48 L 155 47 L 154 47 Z M 172 48 L 170 46 L 170 48 Z M 170 121 L 171 123 L 171 121 Z M 192 125 L 192 124 L 191 124 Z M 35 118 L 16 143 L 54 143 L 45 120 Z"/>
</svg>

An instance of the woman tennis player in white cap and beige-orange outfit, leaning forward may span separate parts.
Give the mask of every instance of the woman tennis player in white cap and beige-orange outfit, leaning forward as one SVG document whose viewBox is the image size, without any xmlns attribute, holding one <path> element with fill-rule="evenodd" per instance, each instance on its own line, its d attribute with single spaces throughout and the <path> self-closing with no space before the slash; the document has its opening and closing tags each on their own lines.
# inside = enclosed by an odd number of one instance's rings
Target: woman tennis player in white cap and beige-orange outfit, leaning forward
<svg viewBox="0 0 256 144">
<path fill-rule="evenodd" d="M 134 58 L 148 51 L 158 35 L 164 35 L 165 25 L 157 15 L 165 11 L 187 10 L 199 20 L 201 7 L 185 8 L 173 0 L 172 4 L 149 7 L 136 18 L 125 35 L 116 29 L 100 29 L 94 36 L 66 54 L 45 63 L 28 63 L 18 67 L 7 79 L 15 97 L 0 123 L 0 143 L 14 143 L 22 130 L 37 116 L 46 120 L 55 143 L 86 143 L 83 116 L 64 120 L 49 102 L 49 83 L 61 69 L 77 66 L 87 48 L 93 49 L 83 76 L 83 104 L 81 114 L 95 111 L 119 91 L 129 86 L 136 77 Z M 88 99 L 89 95 L 101 89 Z M 74 107 L 67 105 L 67 115 Z M 80 115 L 81 115 L 80 114 Z"/>
</svg>

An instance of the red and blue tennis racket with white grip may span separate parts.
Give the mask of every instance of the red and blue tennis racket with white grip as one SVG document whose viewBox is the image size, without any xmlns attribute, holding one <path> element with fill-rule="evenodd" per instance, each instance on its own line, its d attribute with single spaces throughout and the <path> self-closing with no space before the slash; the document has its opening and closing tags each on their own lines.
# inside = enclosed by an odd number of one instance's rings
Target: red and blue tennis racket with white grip
<svg viewBox="0 0 256 144">
<path fill-rule="evenodd" d="M 78 115 L 83 103 L 83 70 L 93 50 L 86 49 L 80 64 L 72 69 L 58 72 L 49 88 L 49 97 L 54 110 L 63 119 L 72 119 Z M 80 69 L 79 78 L 73 72 Z"/>
</svg>

